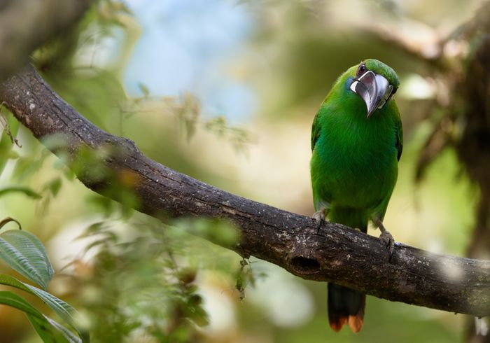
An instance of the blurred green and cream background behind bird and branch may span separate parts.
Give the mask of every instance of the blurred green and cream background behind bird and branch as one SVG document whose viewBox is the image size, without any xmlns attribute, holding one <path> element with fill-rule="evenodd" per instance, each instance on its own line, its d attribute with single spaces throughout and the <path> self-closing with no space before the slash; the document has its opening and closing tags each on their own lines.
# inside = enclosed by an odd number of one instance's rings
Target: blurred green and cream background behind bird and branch
<svg viewBox="0 0 490 343">
<path fill-rule="evenodd" d="M 472 111 L 470 97 L 484 99 L 488 88 L 467 92 L 488 60 L 488 7 L 482 0 L 99 1 L 76 29 L 36 50 L 34 64 L 92 123 L 134 140 L 154 160 L 311 215 L 312 120 L 340 73 L 380 59 L 400 76 L 405 139 L 386 227 L 396 241 L 427 251 L 488 258 L 490 169 L 478 160 L 488 147 L 468 132 L 472 113 L 488 113 Z M 325 283 L 209 243 L 233 239 L 221 224 L 164 225 L 106 200 L 23 127 L 18 140 L 22 148 L 0 182 L 42 198 L 1 197 L 1 217 L 43 240 L 57 272 L 50 292 L 80 311 L 92 342 L 475 339 L 473 318 L 375 297 L 367 297 L 358 335 L 335 334 Z M 0 307 L 0 331 L 2 342 L 39 342 L 8 307 Z"/>
</svg>

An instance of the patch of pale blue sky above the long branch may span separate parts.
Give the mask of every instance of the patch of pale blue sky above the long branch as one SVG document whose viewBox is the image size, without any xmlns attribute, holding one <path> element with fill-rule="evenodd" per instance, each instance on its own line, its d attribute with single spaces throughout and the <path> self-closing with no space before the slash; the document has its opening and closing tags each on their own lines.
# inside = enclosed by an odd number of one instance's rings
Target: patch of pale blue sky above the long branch
<svg viewBox="0 0 490 343">
<path fill-rule="evenodd" d="M 127 65 L 129 94 L 142 83 L 153 95 L 191 92 L 204 114 L 246 121 L 257 96 L 226 66 L 246 52 L 253 19 L 236 0 L 127 0 L 143 33 Z"/>
</svg>

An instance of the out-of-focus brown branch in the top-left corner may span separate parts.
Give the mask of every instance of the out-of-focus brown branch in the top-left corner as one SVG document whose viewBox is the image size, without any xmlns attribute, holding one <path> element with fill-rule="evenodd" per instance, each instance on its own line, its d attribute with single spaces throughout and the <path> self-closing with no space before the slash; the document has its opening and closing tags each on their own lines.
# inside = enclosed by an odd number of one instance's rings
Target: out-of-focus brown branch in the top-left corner
<svg viewBox="0 0 490 343">
<path fill-rule="evenodd" d="M 91 0 L 0 1 L 0 80 L 25 66 L 32 51 L 71 27 Z"/>
</svg>

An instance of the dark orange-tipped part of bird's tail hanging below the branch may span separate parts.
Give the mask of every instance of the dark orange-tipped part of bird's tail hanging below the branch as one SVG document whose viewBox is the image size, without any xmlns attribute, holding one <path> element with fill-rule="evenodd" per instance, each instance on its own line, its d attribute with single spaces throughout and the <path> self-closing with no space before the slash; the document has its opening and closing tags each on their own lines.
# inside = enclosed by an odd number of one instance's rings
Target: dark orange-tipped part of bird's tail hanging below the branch
<svg viewBox="0 0 490 343">
<path fill-rule="evenodd" d="M 349 324 L 353 332 L 359 332 L 364 323 L 366 296 L 357 290 L 328 283 L 328 321 L 335 332 Z"/>
</svg>

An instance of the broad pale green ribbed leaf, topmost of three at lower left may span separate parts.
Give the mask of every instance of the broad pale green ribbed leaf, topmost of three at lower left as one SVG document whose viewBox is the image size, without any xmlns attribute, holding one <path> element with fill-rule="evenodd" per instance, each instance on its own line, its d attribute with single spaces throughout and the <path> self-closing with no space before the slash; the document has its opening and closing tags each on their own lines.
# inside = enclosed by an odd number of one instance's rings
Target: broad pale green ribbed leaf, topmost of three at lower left
<svg viewBox="0 0 490 343">
<path fill-rule="evenodd" d="M 36 236 L 22 230 L 0 234 L 0 258 L 42 288 L 48 288 L 54 270 L 45 248 Z"/>
</svg>

